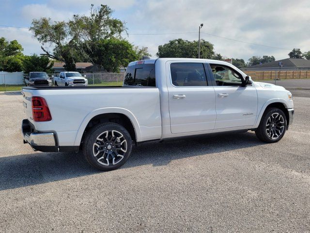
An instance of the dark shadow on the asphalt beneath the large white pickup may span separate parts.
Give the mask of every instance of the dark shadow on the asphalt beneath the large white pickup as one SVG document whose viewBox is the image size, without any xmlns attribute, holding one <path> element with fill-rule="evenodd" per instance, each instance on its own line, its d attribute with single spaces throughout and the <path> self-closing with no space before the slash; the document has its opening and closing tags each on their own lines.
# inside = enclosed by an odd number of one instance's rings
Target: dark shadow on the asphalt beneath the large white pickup
<svg viewBox="0 0 310 233">
<path fill-rule="evenodd" d="M 120 169 L 152 164 L 165 166 L 172 160 L 255 147 L 263 144 L 254 133 L 207 136 L 163 143 L 148 142 L 133 148 L 132 156 Z M 93 169 L 79 153 L 33 153 L 0 157 L 0 191 L 40 183 L 87 176 Z M 104 175 L 104 173 L 103 173 Z"/>
</svg>

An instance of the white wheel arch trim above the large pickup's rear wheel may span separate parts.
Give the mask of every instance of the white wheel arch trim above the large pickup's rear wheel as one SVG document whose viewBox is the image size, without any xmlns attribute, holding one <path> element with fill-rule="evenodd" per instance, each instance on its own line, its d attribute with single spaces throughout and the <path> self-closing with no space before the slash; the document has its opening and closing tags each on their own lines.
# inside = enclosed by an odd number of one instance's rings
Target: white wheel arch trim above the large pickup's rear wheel
<svg viewBox="0 0 310 233">
<path fill-rule="evenodd" d="M 98 116 L 101 114 L 107 114 L 107 113 L 119 113 L 119 114 L 124 114 L 125 116 L 127 116 L 130 119 L 132 125 L 134 126 L 137 141 L 141 140 L 141 130 L 140 130 L 138 120 L 129 110 L 124 109 L 124 108 L 99 108 L 99 109 L 93 110 L 87 116 L 85 116 L 85 118 L 83 119 L 82 123 L 80 124 L 78 128 L 78 133 L 76 135 L 74 145 L 75 146 L 80 145 L 86 126 L 94 116 Z"/>
</svg>

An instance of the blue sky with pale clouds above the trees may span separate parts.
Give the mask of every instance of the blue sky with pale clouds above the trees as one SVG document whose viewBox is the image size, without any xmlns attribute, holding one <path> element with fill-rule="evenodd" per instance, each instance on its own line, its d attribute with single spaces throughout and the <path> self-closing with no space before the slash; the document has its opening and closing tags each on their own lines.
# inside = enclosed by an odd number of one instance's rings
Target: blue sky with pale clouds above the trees
<svg viewBox="0 0 310 233">
<path fill-rule="evenodd" d="M 87 15 L 91 3 L 114 9 L 113 16 L 126 21 L 130 35 L 125 38 L 148 47 L 153 57 L 159 45 L 176 38 L 197 40 L 198 33 L 132 34 L 198 32 L 200 23 L 204 24 L 202 38 L 226 57 L 247 61 L 254 55 L 274 55 L 283 59 L 293 48 L 310 50 L 308 0 L 0 0 L 0 25 L 29 27 L 32 18 L 39 17 L 68 20 L 73 14 Z M 41 52 L 27 29 L 0 26 L 0 36 L 17 39 L 25 54 Z"/>
</svg>

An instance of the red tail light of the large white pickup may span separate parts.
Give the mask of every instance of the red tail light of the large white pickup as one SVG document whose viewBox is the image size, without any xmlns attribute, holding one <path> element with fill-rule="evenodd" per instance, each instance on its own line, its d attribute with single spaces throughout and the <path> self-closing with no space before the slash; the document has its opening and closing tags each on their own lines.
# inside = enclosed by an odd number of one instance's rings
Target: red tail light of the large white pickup
<svg viewBox="0 0 310 233">
<path fill-rule="evenodd" d="M 32 117 L 34 121 L 49 121 L 52 119 L 50 115 L 47 101 L 42 97 L 33 96 L 32 102 Z"/>
</svg>

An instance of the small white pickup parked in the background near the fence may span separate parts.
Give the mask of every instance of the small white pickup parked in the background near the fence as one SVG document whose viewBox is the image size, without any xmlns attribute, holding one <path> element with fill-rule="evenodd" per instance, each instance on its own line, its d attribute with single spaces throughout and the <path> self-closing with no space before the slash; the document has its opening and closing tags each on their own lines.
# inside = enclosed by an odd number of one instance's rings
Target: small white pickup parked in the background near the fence
<svg viewBox="0 0 310 233">
<path fill-rule="evenodd" d="M 79 72 L 65 71 L 54 77 L 55 86 L 87 86 L 88 80 Z"/>
</svg>

